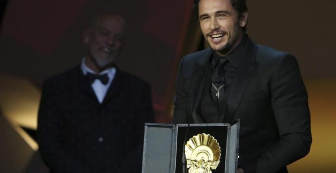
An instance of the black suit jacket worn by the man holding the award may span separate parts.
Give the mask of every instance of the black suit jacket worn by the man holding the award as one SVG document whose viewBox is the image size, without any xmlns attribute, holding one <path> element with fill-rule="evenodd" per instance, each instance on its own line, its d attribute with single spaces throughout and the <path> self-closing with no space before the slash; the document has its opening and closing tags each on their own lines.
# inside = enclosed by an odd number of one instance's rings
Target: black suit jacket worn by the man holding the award
<svg viewBox="0 0 336 173">
<path fill-rule="evenodd" d="M 248 39 L 222 123 L 240 119 L 238 165 L 244 172 L 287 172 L 312 142 L 307 92 L 295 57 Z M 212 50 L 185 56 L 179 67 L 174 124 L 204 122 L 198 114 Z"/>
</svg>

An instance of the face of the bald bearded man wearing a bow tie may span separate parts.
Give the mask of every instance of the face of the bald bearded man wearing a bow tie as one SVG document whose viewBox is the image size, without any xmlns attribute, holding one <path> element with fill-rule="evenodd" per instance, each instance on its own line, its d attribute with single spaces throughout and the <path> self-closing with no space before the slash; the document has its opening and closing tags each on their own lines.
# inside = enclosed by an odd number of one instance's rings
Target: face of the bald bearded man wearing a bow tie
<svg viewBox="0 0 336 173">
<path fill-rule="evenodd" d="M 115 62 L 124 45 L 124 20 L 119 16 L 103 16 L 85 32 L 88 60 L 95 68 L 103 69 Z"/>
</svg>

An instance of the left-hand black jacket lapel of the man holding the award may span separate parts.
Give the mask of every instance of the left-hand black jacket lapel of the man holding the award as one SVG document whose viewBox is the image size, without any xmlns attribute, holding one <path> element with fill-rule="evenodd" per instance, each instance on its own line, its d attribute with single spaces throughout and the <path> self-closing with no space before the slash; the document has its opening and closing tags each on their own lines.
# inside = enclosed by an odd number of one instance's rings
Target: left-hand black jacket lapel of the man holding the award
<svg viewBox="0 0 336 173">
<path fill-rule="evenodd" d="M 205 123 L 204 120 L 196 113 L 206 81 L 207 74 L 209 72 L 209 64 L 211 57 L 211 49 L 207 49 L 206 52 L 201 55 L 201 60 L 196 62 L 193 68 L 192 80 L 191 80 L 191 97 L 190 97 L 190 110 L 192 111 L 192 118 L 194 123 Z"/>
</svg>

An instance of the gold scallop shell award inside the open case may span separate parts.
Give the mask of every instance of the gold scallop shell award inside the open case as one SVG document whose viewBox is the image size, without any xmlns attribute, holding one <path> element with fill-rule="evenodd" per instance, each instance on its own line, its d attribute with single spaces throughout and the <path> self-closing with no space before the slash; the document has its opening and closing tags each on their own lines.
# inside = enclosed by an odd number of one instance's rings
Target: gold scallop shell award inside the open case
<svg viewBox="0 0 336 173">
<path fill-rule="evenodd" d="M 189 173 L 211 173 L 219 164 L 219 143 L 209 134 L 193 136 L 184 150 Z"/>
</svg>

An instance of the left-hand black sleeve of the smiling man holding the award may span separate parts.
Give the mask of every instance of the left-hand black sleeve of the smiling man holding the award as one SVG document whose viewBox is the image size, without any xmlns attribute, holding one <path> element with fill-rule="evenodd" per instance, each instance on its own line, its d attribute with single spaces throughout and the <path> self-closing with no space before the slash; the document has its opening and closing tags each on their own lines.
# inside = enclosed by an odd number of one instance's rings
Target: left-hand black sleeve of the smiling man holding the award
<svg viewBox="0 0 336 173">
<path fill-rule="evenodd" d="M 173 123 L 174 124 L 186 124 L 188 120 L 188 111 L 187 111 L 187 100 L 188 92 L 184 87 L 184 75 L 183 75 L 183 63 L 185 57 L 181 60 L 178 74 L 176 77 L 176 86 L 175 86 L 175 96 L 174 96 L 174 114 L 173 114 Z"/>
</svg>

